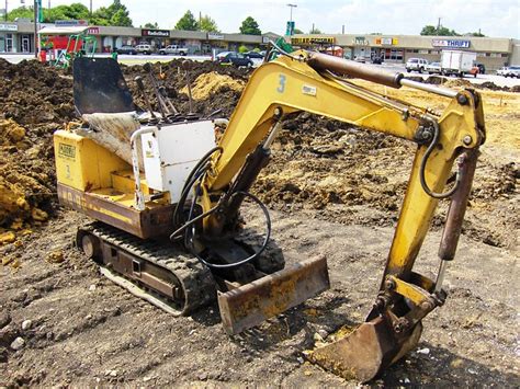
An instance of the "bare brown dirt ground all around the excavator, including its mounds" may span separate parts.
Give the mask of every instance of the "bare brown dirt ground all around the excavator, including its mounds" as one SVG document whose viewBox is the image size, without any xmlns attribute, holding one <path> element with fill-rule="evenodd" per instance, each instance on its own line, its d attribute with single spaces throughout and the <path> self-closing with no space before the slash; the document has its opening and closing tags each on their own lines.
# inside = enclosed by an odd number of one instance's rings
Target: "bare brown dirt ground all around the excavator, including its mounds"
<svg viewBox="0 0 520 389">
<path fill-rule="evenodd" d="M 183 68 L 172 61 L 155 70 L 165 73 L 169 95 L 185 111 Z M 133 79 L 144 70 L 123 70 L 134 90 Z M 196 85 L 212 71 L 234 85 L 249 76 L 204 64 L 191 65 L 190 78 Z M 287 262 L 325 254 L 331 289 L 229 337 L 217 307 L 172 318 L 102 278 L 74 249 L 76 229 L 87 219 L 56 204 L 50 146 L 52 131 L 75 117 L 70 77 L 0 60 L 0 79 L 7 84 L 0 125 L 10 128 L 0 136 L 0 386 L 357 386 L 309 365 L 303 352 L 342 325 L 362 322 L 370 310 L 414 145 L 309 114 L 284 122 L 255 192 L 272 209 L 272 237 Z M 222 107 L 229 115 L 239 92 L 204 81 L 195 111 Z M 378 90 L 437 111 L 445 104 L 406 88 Z M 446 275 L 448 301 L 423 320 L 419 347 L 373 386 L 520 386 L 520 95 L 481 92 L 488 137 Z M 437 271 L 445 210 L 441 204 L 417 260 L 426 275 Z M 255 227 L 256 213 L 246 215 Z M 23 344 L 13 344 L 18 337 Z"/>
</svg>

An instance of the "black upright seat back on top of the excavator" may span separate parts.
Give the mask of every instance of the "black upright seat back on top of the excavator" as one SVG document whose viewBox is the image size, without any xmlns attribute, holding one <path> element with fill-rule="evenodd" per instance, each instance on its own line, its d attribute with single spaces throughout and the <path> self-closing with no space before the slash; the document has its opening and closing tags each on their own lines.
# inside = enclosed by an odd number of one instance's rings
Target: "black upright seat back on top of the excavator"
<svg viewBox="0 0 520 389">
<path fill-rule="evenodd" d="M 140 110 L 115 60 L 78 57 L 72 68 L 74 103 L 81 115 Z"/>
</svg>

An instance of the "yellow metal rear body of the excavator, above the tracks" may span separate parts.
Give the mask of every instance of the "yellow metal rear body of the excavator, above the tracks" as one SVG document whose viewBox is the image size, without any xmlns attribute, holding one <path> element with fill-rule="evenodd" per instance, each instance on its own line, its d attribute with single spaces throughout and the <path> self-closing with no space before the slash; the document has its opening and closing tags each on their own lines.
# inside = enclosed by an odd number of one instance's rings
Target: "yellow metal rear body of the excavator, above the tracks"
<svg viewBox="0 0 520 389">
<path fill-rule="evenodd" d="M 140 238 L 168 233 L 172 205 L 165 194 L 135 208 L 132 167 L 93 140 L 58 130 L 54 134 L 58 197 L 64 205 Z M 152 194 L 144 176 L 145 196 Z"/>
</svg>

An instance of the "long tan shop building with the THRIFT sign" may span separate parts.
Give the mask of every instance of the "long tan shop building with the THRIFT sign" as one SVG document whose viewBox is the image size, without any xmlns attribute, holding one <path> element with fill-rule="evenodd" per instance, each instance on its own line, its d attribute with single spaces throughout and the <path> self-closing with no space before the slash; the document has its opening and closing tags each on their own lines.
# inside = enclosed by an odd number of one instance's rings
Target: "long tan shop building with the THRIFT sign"
<svg viewBox="0 0 520 389">
<path fill-rule="evenodd" d="M 298 34 L 291 44 L 299 47 L 326 48 L 337 45 L 351 59 L 383 58 L 386 62 L 404 64 L 408 58 L 439 61 L 444 49 L 475 52 L 477 62 L 495 70 L 505 65 L 520 64 L 520 44 L 517 39 L 474 36 L 421 36 L 421 35 L 361 35 Z"/>
</svg>

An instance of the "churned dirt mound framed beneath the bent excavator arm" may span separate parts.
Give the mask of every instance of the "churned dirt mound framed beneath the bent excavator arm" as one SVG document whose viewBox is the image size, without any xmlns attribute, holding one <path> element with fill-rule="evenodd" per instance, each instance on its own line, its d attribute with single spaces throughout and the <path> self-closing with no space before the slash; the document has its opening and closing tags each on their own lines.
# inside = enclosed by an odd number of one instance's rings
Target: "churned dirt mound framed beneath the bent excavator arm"
<svg viewBox="0 0 520 389">
<path fill-rule="evenodd" d="M 271 207 L 281 210 L 318 209 L 343 222 L 388 225 L 395 220 L 406 187 L 412 147 L 399 139 L 366 131 L 308 113 L 289 118 L 273 145 L 273 161 L 255 188 Z M 391 172 L 391 173 L 388 173 Z M 365 218 L 354 209 L 377 210 Z"/>
</svg>

